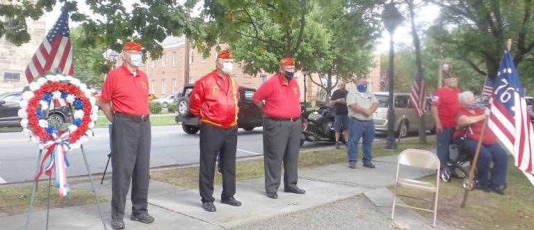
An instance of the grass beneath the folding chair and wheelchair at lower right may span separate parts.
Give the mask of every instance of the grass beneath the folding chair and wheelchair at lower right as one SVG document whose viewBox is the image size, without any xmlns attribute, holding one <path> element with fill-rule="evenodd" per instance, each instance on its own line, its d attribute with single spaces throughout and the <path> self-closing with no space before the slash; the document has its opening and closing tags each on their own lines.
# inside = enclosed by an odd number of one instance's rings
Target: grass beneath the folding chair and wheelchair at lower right
<svg viewBox="0 0 534 230">
<path fill-rule="evenodd" d="M 434 182 L 435 176 L 427 176 L 424 181 Z M 451 179 L 449 183 L 439 183 L 437 218 L 449 226 L 460 229 L 534 229 L 534 187 L 524 174 L 509 159 L 506 177 L 508 188 L 506 195 L 494 192 L 472 190 L 469 192 L 467 205 L 460 208 L 464 195 L 463 179 Z M 393 190 L 393 188 L 390 188 Z M 428 192 L 399 188 L 398 194 L 411 197 L 423 197 L 432 200 Z M 401 197 L 403 202 L 412 206 L 430 209 L 430 202 Z M 402 208 L 401 208 L 402 209 Z M 419 211 L 430 218 L 432 213 Z"/>
</svg>

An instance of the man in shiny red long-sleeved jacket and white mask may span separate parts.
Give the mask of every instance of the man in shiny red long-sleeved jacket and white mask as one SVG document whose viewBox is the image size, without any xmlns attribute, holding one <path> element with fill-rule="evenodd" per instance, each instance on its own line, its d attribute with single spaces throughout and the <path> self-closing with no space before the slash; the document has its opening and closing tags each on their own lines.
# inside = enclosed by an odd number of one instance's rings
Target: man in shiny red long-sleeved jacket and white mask
<svg viewBox="0 0 534 230">
<path fill-rule="evenodd" d="M 230 51 L 220 51 L 216 69 L 195 82 L 189 101 L 189 111 L 201 122 L 198 187 L 202 208 L 209 212 L 216 211 L 213 204 L 213 177 L 219 152 L 223 165 L 223 194 L 220 195 L 220 202 L 241 206 L 241 202 L 234 199 L 239 88 L 229 75 L 233 67 L 234 60 Z"/>
</svg>

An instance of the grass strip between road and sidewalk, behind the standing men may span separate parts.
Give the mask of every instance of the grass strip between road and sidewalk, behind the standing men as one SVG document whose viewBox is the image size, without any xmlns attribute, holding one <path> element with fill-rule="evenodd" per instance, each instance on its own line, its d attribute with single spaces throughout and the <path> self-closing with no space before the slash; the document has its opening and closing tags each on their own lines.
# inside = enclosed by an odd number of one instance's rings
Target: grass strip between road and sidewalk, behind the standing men
<svg viewBox="0 0 534 230">
<path fill-rule="evenodd" d="M 435 138 L 428 138 L 428 144 L 419 145 L 418 140 L 403 140 L 398 149 L 389 150 L 384 149 L 384 144 L 373 146 L 373 157 L 391 156 L 399 154 L 404 149 L 418 148 L 418 149 L 434 149 Z M 360 147 L 360 153 L 361 147 Z M 330 165 L 334 163 L 343 163 L 347 161 L 347 149 L 327 149 L 321 151 L 307 151 L 300 153 L 298 159 L 299 170 L 317 167 L 322 165 Z M 171 183 L 175 186 L 185 188 L 198 188 L 198 167 L 186 167 L 172 170 L 154 170 L 150 172 L 152 179 Z M 246 179 L 253 179 L 264 177 L 264 160 L 257 159 L 251 161 L 238 161 L 236 163 L 236 181 L 244 181 Z M 216 174 L 214 183 L 223 183 L 223 177 Z"/>
</svg>

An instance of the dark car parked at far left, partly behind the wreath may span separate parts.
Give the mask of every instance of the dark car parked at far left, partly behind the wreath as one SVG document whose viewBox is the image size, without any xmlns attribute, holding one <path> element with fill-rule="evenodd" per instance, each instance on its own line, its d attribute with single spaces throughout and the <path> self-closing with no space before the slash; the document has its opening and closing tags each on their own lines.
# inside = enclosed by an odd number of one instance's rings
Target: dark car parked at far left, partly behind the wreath
<svg viewBox="0 0 534 230">
<path fill-rule="evenodd" d="M 0 126 L 20 126 L 18 112 L 20 109 L 19 103 L 21 99 L 22 92 L 6 92 L 0 94 Z M 54 120 L 58 125 L 63 125 L 65 122 L 72 122 L 72 112 L 70 108 L 67 108 L 66 106 L 51 109 L 49 113 L 48 120 Z"/>
</svg>

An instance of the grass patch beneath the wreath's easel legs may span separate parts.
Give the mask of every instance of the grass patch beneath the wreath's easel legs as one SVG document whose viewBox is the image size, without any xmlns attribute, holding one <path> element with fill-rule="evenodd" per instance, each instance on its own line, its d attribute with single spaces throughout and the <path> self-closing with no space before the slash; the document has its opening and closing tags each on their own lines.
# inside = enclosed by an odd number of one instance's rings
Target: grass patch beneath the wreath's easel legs
<svg viewBox="0 0 534 230">
<path fill-rule="evenodd" d="M 7 215 L 19 215 L 28 211 L 30 204 L 31 189 L 33 186 L 0 186 L 0 217 Z M 40 181 L 38 192 L 33 200 L 33 210 L 47 209 L 47 181 Z M 99 197 L 100 202 L 107 202 Z M 70 189 L 70 194 L 59 198 L 55 186 L 50 188 L 50 208 L 61 208 L 95 204 L 95 196 L 91 191 Z"/>
</svg>

